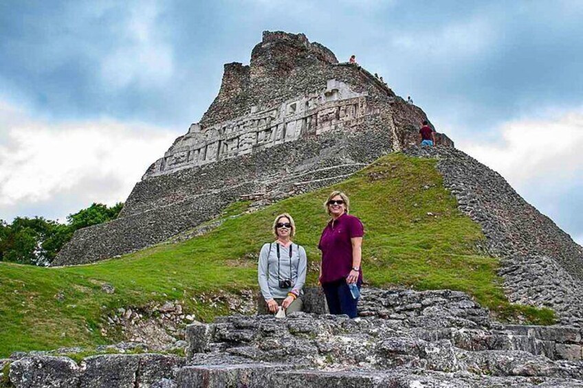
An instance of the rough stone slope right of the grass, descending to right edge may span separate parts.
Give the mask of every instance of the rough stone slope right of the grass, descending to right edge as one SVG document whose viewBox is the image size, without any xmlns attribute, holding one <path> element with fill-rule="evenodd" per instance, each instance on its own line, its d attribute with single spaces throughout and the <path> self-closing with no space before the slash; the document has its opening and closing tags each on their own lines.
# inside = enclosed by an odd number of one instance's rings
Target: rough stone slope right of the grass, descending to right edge
<svg viewBox="0 0 583 388">
<path fill-rule="evenodd" d="M 583 327 L 583 247 L 465 153 L 446 147 L 406 153 L 439 159 L 443 184 L 481 225 L 487 251 L 502 258 L 500 275 L 511 301 L 552 308 L 562 323 Z"/>
</svg>

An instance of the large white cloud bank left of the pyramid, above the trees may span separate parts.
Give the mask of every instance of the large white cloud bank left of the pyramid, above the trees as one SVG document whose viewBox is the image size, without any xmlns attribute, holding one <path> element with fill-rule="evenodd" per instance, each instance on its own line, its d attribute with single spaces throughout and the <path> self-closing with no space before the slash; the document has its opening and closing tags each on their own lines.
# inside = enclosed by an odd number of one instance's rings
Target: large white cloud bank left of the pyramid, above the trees
<svg viewBox="0 0 583 388">
<path fill-rule="evenodd" d="M 27 207 L 58 198 L 87 205 L 124 201 L 177 135 L 113 119 L 39 121 L 1 101 L 0 128 L 0 218 L 5 220 L 17 215 L 10 214 L 13 209 L 27 213 Z M 72 206 L 65 214 L 80 209 Z"/>
</svg>

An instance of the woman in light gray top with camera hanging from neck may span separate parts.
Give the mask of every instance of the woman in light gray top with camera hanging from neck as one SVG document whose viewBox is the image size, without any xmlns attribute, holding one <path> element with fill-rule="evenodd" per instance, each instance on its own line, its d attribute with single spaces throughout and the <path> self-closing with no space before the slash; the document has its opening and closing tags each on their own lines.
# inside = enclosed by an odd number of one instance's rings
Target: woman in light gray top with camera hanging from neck
<svg viewBox="0 0 583 388">
<path fill-rule="evenodd" d="M 272 313 L 283 307 L 287 314 L 301 311 L 301 295 L 306 282 L 307 256 L 304 247 L 294 244 L 294 218 L 287 213 L 275 218 L 275 242 L 264 244 L 259 253 L 259 287 Z"/>
</svg>

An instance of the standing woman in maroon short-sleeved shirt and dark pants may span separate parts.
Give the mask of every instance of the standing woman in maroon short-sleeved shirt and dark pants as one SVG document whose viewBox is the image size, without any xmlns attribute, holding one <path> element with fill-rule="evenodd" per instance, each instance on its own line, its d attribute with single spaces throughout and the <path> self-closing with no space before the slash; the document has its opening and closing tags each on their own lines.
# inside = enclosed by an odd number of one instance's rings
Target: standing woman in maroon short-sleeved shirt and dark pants
<svg viewBox="0 0 583 388">
<path fill-rule="evenodd" d="M 318 249 L 322 251 L 320 284 L 324 289 L 331 314 L 346 314 L 356 317 L 358 291 L 362 284 L 362 236 L 364 227 L 355 216 L 348 214 L 350 201 L 343 192 L 332 192 L 325 203 L 331 216 Z"/>
</svg>

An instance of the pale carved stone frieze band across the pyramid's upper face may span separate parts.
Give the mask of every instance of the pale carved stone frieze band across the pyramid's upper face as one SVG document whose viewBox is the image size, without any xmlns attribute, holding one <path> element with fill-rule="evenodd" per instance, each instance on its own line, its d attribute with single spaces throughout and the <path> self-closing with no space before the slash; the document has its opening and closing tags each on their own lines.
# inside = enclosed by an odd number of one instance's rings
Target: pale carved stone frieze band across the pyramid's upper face
<svg viewBox="0 0 583 388">
<path fill-rule="evenodd" d="M 329 80 L 326 90 L 289 100 L 275 108 L 262 111 L 261 107 L 252 106 L 249 115 L 209 128 L 192 124 L 188 133 L 156 162 L 151 175 L 244 155 L 254 147 L 295 141 L 303 135 L 349 128 L 375 113 L 366 104 L 366 92 L 356 93 L 344 82 Z"/>
</svg>

